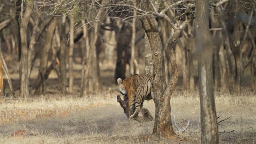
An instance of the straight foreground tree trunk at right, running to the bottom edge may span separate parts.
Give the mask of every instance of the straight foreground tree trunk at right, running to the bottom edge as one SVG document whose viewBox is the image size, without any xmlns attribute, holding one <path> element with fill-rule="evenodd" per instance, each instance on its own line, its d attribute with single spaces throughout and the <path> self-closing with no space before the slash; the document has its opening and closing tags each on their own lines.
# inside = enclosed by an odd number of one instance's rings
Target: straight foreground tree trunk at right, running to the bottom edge
<svg viewBox="0 0 256 144">
<path fill-rule="evenodd" d="M 196 48 L 198 49 L 201 143 L 218 144 L 219 134 L 213 88 L 213 46 L 209 30 L 209 1 L 196 0 Z"/>
</svg>

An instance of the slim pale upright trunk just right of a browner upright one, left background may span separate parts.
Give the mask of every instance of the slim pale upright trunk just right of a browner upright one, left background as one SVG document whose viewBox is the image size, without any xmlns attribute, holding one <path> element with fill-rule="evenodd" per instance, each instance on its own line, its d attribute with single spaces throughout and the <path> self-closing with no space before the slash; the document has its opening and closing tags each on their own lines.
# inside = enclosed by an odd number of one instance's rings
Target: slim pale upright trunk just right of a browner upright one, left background
<svg viewBox="0 0 256 144">
<path fill-rule="evenodd" d="M 70 17 L 70 40 L 69 40 L 69 52 L 68 52 L 68 91 L 73 92 L 74 76 L 73 76 L 73 49 L 74 49 L 74 18 Z"/>
</svg>

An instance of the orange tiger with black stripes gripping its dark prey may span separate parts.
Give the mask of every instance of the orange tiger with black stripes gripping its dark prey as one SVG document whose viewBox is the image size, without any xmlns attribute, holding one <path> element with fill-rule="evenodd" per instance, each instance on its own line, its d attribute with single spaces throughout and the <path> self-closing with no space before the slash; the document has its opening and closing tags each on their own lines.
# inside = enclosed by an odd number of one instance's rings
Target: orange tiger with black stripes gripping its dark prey
<svg viewBox="0 0 256 144">
<path fill-rule="evenodd" d="M 118 78 L 120 93 L 128 98 L 129 118 L 135 119 L 143 107 L 143 101 L 154 100 L 153 78 L 148 74 L 134 74 L 124 80 Z"/>
</svg>

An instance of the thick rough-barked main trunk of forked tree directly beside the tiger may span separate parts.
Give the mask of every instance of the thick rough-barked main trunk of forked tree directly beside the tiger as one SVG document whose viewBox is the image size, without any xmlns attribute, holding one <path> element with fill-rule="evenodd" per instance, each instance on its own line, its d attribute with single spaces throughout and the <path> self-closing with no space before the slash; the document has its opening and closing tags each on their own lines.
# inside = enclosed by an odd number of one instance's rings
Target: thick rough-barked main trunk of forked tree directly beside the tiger
<svg viewBox="0 0 256 144">
<path fill-rule="evenodd" d="M 146 2 L 148 3 L 148 1 Z M 160 39 L 160 34 L 158 32 L 158 24 L 155 20 L 155 16 L 147 15 L 143 16 L 141 19 L 144 30 L 149 39 L 153 65 L 154 65 L 154 74 L 153 74 L 153 92 L 155 95 L 155 123 L 153 134 L 163 137 L 168 137 L 174 135 L 173 127 L 171 125 L 171 106 L 170 99 L 164 99 L 164 91 L 166 88 L 165 83 L 165 66 L 164 66 L 164 53 L 162 49 L 162 43 Z M 168 96 L 166 96 L 168 97 Z M 168 101 L 169 100 L 169 101 Z M 167 102 L 168 104 L 164 104 Z M 163 108 L 167 106 L 166 108 Z M 167 110 L 167 111 L 162 111 Z M 167 113 L 165 113 L 167 112 Z M 164 116 L 163 116 L 164 114 Z"/>
</svg>

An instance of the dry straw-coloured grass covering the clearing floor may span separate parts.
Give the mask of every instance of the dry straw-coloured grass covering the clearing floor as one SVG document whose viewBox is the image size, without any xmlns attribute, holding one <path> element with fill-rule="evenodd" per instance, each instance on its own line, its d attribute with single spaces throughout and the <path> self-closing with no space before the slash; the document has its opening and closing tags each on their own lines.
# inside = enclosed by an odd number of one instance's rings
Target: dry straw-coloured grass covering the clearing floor
<svg viewBox="0 0 256 144">
<path fill-rule="evenodd" d="M 116 102 L 116 93 L 101 92 L 77 96 L 46 95 L 22 99 L 0 99 L 1 144 L 108 144 L 108 143 L 200 143 L 200 102 L 198 94 L 176 91 L 171 98 L 172 116 L 176 122 L 192 120 L 185 133 L 171 139 L 151 135 L 153 121 L 128 120 Z M 230 96 L 216 94 L 217 116 L 225 119 L 219 126 L 220 143 L 256 143 L 256 96 L 244 91 Z M 155 116 L 153 101 L 144 102 Z M 185 123 L 180 123 L 183 127 Z M 18 134 L 21 130 L 24 133 Z M 176 131 L 176 128 L 174 128 Z M 227 133 L 235 130 L 234 132 Z M 16 132 L 15 136 L 13 133 Z"/>
</svg>

